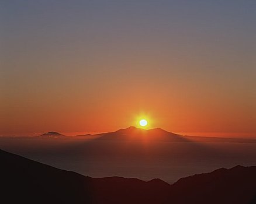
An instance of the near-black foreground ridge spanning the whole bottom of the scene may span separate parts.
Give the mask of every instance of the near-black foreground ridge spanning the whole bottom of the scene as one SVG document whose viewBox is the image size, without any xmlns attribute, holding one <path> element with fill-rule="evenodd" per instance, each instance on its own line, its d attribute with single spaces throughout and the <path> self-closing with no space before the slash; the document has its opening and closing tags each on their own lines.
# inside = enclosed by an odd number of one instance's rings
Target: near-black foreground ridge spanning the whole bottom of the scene
<svg viewBox="0 0 256 204">
<path fill-rule="evenodd" d="M 256 167 L 181 178 L 90 178 L 0 150 L 1 203 L 256 203 Z"/>
</svg>

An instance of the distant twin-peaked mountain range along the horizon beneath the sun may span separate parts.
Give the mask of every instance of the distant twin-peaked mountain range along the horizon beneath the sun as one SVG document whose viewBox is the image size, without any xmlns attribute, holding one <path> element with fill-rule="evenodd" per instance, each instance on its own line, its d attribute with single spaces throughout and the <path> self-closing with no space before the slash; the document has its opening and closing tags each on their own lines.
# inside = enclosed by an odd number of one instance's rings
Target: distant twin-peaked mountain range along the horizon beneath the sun
<svg viewBox="0 0 256 204">
<path fill-rule="evenodd" d="M 13 138 L 13 136 L 2 136 L 2 138 Z M 236 142 L 236 143 L 256 143 L 256 139 L 249 138 L 221 138 L 210 136 L 189 136 L 180 135 L 165 131 L 161 128 L 142 129 L 130 126 L 115 132 L 106 133 L 87 133 L 85 135 L 66 136 L 58 132 L 47 132 L 39 136 L 22 136 L 19 138 L 56 138 L 56 139 L 98 139 L 98 140 L 141 140 L 158 142 Z"/>
</svg>

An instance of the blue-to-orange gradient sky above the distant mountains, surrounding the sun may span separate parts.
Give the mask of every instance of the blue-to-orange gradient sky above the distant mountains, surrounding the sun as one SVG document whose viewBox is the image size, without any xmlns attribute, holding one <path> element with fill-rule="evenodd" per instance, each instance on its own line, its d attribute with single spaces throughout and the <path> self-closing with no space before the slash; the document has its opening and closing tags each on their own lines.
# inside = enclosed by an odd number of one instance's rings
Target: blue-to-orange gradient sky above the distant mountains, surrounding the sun
<svg viewBox="0 0 256 204">
<path fill-rule="evenodd" d="M 0 135 L 256 135 L 256 1 L 1 1 Z"/>
</svg>

